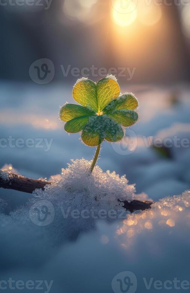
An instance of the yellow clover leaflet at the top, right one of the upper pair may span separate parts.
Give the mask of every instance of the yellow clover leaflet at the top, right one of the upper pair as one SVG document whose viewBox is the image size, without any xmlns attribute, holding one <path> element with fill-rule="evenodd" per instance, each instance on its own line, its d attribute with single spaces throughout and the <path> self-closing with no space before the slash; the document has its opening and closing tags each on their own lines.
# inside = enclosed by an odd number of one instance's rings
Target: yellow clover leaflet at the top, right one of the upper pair
<svg viewBox="0 0 190 293">
<path fill-rule="evenodd" d="M 120 94 L 120 87 L 112 78 L 102 78 L 97 82 L 96 88 L 99 112 Z"/>
</svg>

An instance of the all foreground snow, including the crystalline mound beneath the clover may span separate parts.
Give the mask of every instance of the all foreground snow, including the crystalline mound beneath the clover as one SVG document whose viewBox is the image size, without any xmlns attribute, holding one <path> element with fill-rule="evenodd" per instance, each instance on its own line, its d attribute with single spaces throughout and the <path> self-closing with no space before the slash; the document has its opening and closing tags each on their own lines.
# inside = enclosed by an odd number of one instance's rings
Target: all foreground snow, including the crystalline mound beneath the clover
<svg viewBox="0 0 190 293">
<path fill-rule="evenodd" d="M 56 293 L 188 289 L 190 191 L 127 214 L 116 198 L 125 191 L 132 199 L 134 188 L 98 166 L 89 177 L 89 167 L 72 162 L 8 216 L 1 203 L 1 289 L 36 292 L 39 282 L 41 292 Z"/>
</svg>

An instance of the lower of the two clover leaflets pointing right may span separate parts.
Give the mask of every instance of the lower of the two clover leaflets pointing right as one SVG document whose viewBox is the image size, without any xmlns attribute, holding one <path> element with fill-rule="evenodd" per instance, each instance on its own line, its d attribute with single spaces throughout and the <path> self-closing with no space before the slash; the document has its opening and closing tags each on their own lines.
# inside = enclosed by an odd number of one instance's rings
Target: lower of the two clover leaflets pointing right
<svg viewBox="0 0 190 293">
<path fill-rule="evenodd" d="M 114 110 L 107 115 L 125 127 L 132 126 L 138 120 L 138 114 L 131 110 Z"/>
</svg>

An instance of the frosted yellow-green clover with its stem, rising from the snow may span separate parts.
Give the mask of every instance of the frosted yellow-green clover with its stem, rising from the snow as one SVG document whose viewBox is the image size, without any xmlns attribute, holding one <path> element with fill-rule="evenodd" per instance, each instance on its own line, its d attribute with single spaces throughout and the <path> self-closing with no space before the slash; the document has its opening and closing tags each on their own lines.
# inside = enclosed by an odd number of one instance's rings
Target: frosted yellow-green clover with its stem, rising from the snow
<svg viewBox="0 0 190 293">
<path fill-rule="evenodd" d="M 132 93 L 121 95 L 113 75 L 97 83 L 83 77 L 77 80 L 72 94 L 80 105 L 66 103 L 60 110 L 60 119 L 66 122 L 66 132 L 81 132 L 82 141 L 87 146 L 97 146 L 90 170 L 92 173 L 102 141 L 122 140 L 125 127 L 137 122 L 138 113 L 135 110 L 138 100 Z"/>
</svg>

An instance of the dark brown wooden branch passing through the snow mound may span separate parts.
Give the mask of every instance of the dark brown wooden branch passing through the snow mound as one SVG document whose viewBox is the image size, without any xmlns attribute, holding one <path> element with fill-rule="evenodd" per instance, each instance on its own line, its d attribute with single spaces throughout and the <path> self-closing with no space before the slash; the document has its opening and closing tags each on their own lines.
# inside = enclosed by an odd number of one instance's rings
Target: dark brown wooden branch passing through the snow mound
<svg viewBox="0 0 190 293">
<path fill-rule="evenodd" d="M 1 176 L 1 173 L 0 173 L 0 187 L 32 193 L 35 189 L 41 188 L 42 190 L 44 190 L 44 186 L 46 184 L 52 183 L 51 181 L 44 181 L 41 179 L 32 179 L 32 178 L 24 177 L 18 174 L 12 174 L 11 172 L 8 172 L 8 174 L 9 174 L 9 178 L 6 179 L 3 176 Z M 118 201 L 120 202 L 119 199 Z M 148 201 L 141 202 L 138 200 L 133 200 L 132 202 L 124 201 L 124 207 L 126 210 L 133 212 L 134 210 L 150 209 L 152 203 L 153 202 L 148 202 Z"/>
</svg>

